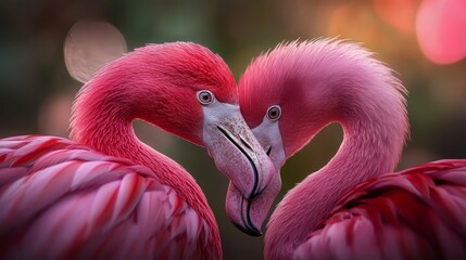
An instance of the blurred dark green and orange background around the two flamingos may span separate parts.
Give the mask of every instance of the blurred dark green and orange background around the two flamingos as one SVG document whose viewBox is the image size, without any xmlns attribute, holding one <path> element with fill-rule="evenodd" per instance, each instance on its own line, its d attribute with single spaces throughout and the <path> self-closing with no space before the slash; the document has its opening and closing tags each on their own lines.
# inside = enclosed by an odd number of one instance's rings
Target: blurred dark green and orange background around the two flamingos
<svg viewBox="0 0 466 260">
<path fill-rule="evenodd" d="M 410 91 L 412 138 L 399 169 L 441 158 L 465 158 L 466 62 L 439 65 L 423 54 L 415 24 L 420 3 L 3 0 L 0 138 L 29 133 L 67 136 L 71 104 L 81 83 L 66 70 L 63 42 L 75 22 L 98 18 L 121 30 L 128 50 L 149 42 L 201 43 L 221 54 L 237 79 L 253 56 L 284 40 L 339 36 L 363 42 L 399 74 Z M 199 181 L 219 223 L 225 259 L 261 259 L 263 237 L 249 237 L 227 221 L 227 180 L 205 151 L 139 121 L 135 128 L 143 142 L 179 161 Z M 341 138 L 340 127 L 332 125 L 291 158 L 281 171 L 284 191 L 277 200 L 325 165 Z"/>
</svg>

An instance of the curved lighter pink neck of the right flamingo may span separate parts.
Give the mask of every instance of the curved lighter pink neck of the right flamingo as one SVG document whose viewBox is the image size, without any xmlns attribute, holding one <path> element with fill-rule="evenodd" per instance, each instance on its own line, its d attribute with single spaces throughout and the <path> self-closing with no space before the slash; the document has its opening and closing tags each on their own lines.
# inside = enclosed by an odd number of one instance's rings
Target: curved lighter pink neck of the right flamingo
<svg viewBox="0 0 466 260">
<path fill-rule="evenodd" d="M 342 68 L 338 70 L 354 72 L 347 75 L 352 80 L 341 80 L 341 75 L 324 77 L 318 74 L 304 78 L 303 82 L 313 82 L 313 86 L 328 90 L 315 92 L 323 93 L 318 98 L 331 106 L 331 110 L 322 113 L 330 116 L 318 126 L 313 125 L 318 117 L 312 110 L 303 112 L 303 127 L 297 130 L 298 135 L 306 133 L 307 138 L 302 140 L 308 142 L 323 126 L 338 121 L 344 139 L 336 156 L 289 191 L 277 206 L 265 236 L 267 259 L 290 259 L 294 249 L 328 217 L 345 193 L 371 178 L 392 172 L 399 161 L 408 128 L 404 99 L 400 93 L 403 87 L 378 63 L 360 70 L 355 64 L 340 63 Z M 343 65 L 353 70 L 344 69 Z M 379 69 L 378 73 L 371 73 L 373 68 Z"/>
</svg>

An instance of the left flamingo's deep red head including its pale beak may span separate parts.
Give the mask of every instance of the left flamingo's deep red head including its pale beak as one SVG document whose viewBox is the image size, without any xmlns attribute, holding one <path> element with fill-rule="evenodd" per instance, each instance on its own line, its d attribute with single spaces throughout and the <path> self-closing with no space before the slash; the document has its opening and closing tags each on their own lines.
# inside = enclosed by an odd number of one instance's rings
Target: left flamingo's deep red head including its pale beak
<svg viewBox="0 0 466 260">
<path fill-rule="evenodd" d="M 139 53 L 151 58 L 151 69 L 158 70 L 153 74 L 171 79 L 148 94 L 163 102 L 146 107 L 142 119 L 205 146 L 245 197 L 261 193 L 275 169 L 241 115 L 235 78 L 222 57 L 199 44 L 181 42 L 149 46 Z"/>
</svg>

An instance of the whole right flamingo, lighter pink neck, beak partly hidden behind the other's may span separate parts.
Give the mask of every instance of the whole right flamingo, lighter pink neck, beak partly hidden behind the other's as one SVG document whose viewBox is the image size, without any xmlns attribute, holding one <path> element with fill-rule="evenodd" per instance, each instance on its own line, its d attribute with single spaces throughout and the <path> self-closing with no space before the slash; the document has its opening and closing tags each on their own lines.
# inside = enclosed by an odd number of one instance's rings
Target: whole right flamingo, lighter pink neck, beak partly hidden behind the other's
<svg viewBox="0 0 466 260">
<path fill-rule="evenodd" d="M 265 259 L 466 259 L 466 160 L 393 173 L 408 134 L 405 92 L 369 51 L 336 39 L 279 44 L 247 68 L 241 112 L 277 169 L 330 122 L 344 133 L 277 205 Z M 230 184 L 227 200 L 260 229 L 279 190 L 277 174 L 253 199 Z"/>
</svg>

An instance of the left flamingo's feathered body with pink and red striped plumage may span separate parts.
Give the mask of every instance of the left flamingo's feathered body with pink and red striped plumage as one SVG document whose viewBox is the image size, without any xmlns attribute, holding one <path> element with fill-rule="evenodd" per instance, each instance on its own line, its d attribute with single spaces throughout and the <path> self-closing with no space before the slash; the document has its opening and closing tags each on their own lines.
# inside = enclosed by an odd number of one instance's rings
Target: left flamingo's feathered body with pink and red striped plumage
<svg viewBox="0 0 466 260">
<path fill-rule="evenodd" d="M 0 140 L 0 255 L 5 258 L 222 256 L 216 223 L 152 170 L 70 140 Z"/>
</svg>

